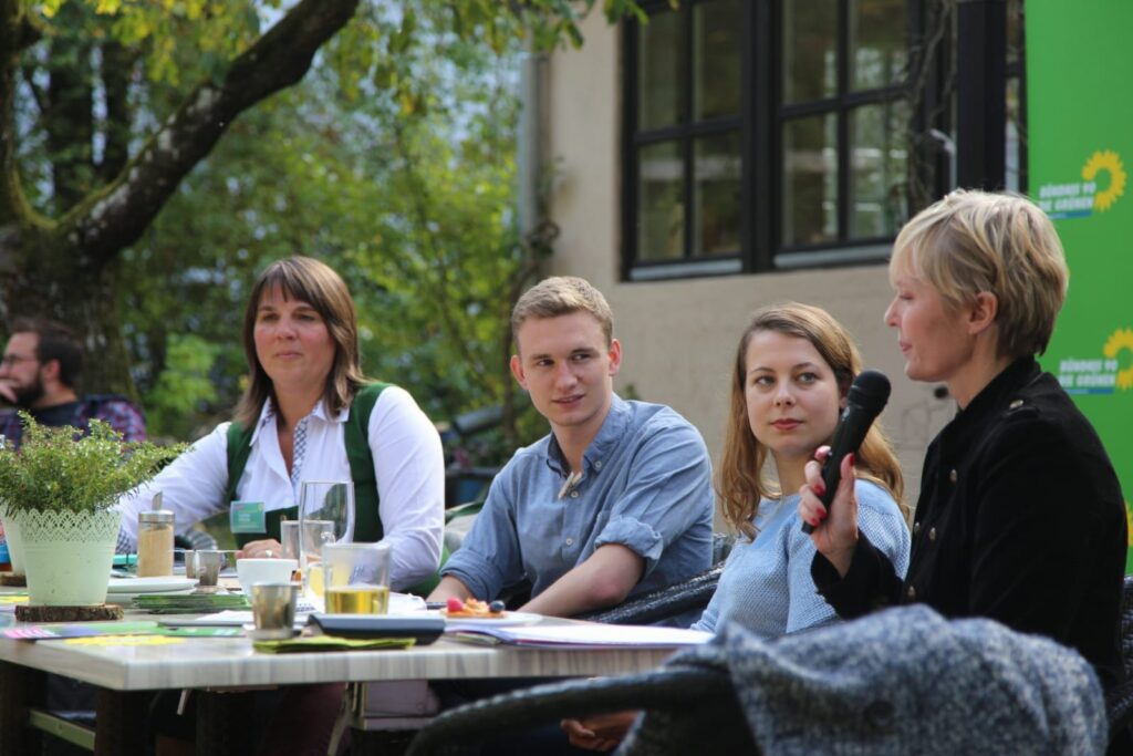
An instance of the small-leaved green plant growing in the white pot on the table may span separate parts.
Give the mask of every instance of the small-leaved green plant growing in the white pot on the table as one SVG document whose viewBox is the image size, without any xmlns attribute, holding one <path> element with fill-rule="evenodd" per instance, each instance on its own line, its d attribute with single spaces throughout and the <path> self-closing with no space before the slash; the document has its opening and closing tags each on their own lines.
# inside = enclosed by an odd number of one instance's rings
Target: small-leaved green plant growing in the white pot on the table
<svg viewBox="0 0 1133 756">
<path fill-rule="evenodd" d="M 151 478 L 184 447 L 125 443 L 102 421 L 77 438 L 70 426 L 48 427 L 20 413 L 19 451 L 0 449 L 0 501 L 12 510 L 96 512 L 110 509 L 122 493 Z"/>
</svg>

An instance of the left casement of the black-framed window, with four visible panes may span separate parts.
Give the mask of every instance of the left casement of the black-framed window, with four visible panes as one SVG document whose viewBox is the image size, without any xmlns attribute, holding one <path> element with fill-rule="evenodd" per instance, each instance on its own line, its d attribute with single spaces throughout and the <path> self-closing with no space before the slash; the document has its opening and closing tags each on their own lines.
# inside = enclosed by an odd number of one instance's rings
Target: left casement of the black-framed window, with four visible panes
<svg viewBox="0 0 1133 756">
<path fill-rule="evenodd" d="M 632 267 L 740 270 L 744 5 L 666 3 L 631 32 Z"/>
</svg>

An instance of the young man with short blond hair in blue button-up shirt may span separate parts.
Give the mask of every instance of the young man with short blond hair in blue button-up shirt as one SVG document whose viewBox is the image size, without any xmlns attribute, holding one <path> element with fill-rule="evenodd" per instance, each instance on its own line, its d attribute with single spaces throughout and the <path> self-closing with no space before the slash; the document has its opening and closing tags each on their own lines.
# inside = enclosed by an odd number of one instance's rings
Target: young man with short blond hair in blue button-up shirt
<svg viewBox="0 0 1133 756">
<path fill-rule="evenodd" d="M 707 569 L 704 440 L 672 409 L 614 393 L 622 348 L 602 292 L 546 279 L 517 303 L 512 333 L 512 374 L 551 433 L 496 476 L 429 601 L 492 600 L 526 578 L 523 611 L 572 617 Z"/>
</svg>

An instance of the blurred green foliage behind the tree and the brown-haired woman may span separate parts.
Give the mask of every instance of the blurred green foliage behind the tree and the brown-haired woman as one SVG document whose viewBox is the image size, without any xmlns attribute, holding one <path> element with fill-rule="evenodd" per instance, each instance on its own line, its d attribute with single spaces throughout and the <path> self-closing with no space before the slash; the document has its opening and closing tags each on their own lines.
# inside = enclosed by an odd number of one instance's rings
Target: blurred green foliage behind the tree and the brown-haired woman
<svg viewBox="0 0 1133 756">
<path fill-rule="evenodd" d="M 60 216 L 107 186 L 191 87 L 221 82 L 297 5 L 0 0 L 5 19 L 15 8 L 40 35 L 19 56 L 8 125 L 33 212 Z M 544 433 L 506 367 L 514 297 L 551 254 L 517 218 L 520 67 L 581 44 L 578 22 L 594 5 L 358 3 L 299 84 L 228 125 L 110 263 L 128 373 L 122 385 L 84 388 L 136 396 L 152 436 L 203 434 L 244 388 L 253 280 L 304 254 L 350 287 L 368 375 L 406 387 L 442 423 L 504 407 L 462 464 L 496 464 Z M 603 11 L 640 17 L 630 0 Z M 113 375 L 93 357 L 90 372 Z"/>
</svg>

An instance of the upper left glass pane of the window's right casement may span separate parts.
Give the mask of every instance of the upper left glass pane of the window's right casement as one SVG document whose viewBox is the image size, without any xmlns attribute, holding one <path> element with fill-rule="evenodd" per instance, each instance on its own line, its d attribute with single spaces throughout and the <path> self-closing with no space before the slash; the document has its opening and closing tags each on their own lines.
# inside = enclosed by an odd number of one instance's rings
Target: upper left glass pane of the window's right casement
<svg viewBox="0 0 1133 756">
<path fill-rule="evenodd" d="M 784 0 L 783 102 L 837 91 L 837 0 Z"/>
</svg>

